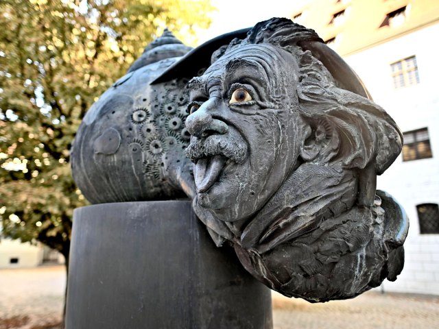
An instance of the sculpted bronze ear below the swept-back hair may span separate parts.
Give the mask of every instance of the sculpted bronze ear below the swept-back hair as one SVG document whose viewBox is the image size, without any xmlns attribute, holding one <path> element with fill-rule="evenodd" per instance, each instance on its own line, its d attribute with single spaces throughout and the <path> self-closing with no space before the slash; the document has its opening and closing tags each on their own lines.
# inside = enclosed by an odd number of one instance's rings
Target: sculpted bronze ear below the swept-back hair
<svg viewBox="0 0 439 329">
<path fill-rule="evenodd" d="M 326 162 L 339 147 L 339 138 L 326 121 L 311 123 L 305 130 L 305 140 L 300 148 L 300 157 L 305 162 Z"/>
</svg>

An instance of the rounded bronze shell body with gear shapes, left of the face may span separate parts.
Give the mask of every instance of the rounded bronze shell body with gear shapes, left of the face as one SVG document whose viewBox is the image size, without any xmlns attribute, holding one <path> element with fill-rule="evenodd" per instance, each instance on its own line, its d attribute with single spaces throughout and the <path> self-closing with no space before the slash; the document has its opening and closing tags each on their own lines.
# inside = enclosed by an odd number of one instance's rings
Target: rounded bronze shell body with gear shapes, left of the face
<svg viewBox="0 0 439 329">
<path fill-rule="evenodd" d="M 188 79 L 150 86 L 190 49 L 165 31 L 86 113 L 71 164 L 76 184 L 92 204 L 190 195 L 193 188 L 176 186 L 172 179 L 189 175 L 183 154 L 190 138 L 185 129 Z M 169 167 L 168 154 L 182 165 Z M 172 175 L 165 168 L 178 172 Z"/>
</svg>

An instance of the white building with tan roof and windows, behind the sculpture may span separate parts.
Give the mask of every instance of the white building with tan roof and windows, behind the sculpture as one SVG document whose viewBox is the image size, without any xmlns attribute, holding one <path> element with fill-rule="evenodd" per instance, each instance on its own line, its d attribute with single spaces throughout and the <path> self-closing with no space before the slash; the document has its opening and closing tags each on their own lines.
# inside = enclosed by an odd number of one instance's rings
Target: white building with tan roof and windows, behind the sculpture
<svg viewBox="0 0 439 329">
<path fill-rule="evenodd" d="M 439 295 L 439 1 L 301 1 L 292 19 L 357 72 L 399 125 L 403 153 L 378 188 L 410 218 L 405 269 L 383 291 Z"/>
</svg>

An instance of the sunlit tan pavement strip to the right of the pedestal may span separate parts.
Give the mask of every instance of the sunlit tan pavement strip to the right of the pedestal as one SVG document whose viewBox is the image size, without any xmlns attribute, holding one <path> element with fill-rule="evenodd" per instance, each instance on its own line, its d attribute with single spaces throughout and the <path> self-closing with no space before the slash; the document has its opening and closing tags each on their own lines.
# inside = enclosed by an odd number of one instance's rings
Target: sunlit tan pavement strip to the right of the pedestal
<svg viewBox="0 0 439 329">
<path fill-rule="evenodd" d="M 310 304 L 273 294 L 275 329 L 436 329 L 439 296 L 369 291 L 353 300 Z"/>
</svg>

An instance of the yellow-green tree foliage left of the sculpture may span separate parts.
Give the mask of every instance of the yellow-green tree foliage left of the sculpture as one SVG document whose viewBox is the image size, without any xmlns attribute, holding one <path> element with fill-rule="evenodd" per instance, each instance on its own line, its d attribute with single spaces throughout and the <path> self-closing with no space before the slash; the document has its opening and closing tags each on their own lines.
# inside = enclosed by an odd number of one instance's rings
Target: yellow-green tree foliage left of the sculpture
<svg viewBox="0 0 439 329">
<path fill-rule="evenodd" d="M 0 221 L 3 234 L 69 252 L 84 206 L 69 152 L 93 101 L 165 27 L 193 45 L 209 0 L 1 0 Z"/>
</svg>

